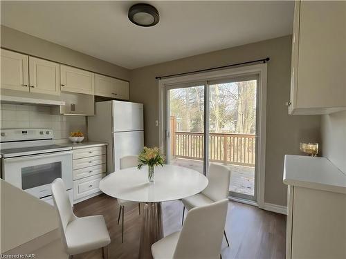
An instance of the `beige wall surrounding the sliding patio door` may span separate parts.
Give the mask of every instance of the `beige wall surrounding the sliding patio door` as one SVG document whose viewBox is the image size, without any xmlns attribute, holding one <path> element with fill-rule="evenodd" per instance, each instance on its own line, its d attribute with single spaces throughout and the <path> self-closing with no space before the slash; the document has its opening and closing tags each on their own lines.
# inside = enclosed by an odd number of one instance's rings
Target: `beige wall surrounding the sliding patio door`
<svg viewBox="0 0 346 259">
<path fill-rule="evenodd" d="M 158 43 L 159 44 L 159 43 Z M 270 57 L 267 84 L 265 202 L 286 205 L 286 186 L 282 184 L 285 154 L 301 154 L 301 141 L 318 141 L 320 116 L 289 116 L 291 36 L 260 41 L 225 50 L 131 70 L 130 100 L 145 108 L 145 144 L 158 145 L 158 81 L 155 76 L 224 66 Z"/>
</svg>

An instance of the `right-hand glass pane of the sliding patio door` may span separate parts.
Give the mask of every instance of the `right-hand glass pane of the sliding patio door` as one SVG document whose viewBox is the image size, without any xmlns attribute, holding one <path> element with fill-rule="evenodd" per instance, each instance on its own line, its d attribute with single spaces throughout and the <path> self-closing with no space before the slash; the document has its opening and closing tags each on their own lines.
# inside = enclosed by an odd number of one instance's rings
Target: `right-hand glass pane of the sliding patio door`
<svg viewBox="0 0 346 259">
<path fill-rule="evenodd" d="M 230 196 L 256 200 L 257 77 L 208 81 L 209 163 L 230 169 Z"/>
</svg>

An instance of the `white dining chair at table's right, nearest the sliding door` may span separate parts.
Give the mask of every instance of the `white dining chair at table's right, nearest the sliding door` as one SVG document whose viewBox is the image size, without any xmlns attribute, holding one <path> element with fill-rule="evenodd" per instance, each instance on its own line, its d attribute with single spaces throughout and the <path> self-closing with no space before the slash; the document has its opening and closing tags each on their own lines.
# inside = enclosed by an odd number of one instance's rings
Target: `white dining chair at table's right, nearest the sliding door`
<svg viewBox="0 0 346 259">
<path fill-rule="evenodd" d="M 230 186 L 230 170 L 226 166 L 222 166 L 219 164 L 210 164 L 208 171 L 208 185 L 206 189 L 201 191 L 201 193 L 197 193 L 196 195 L 192 195 L 188 198 L 183 198 L 183 219 L 185 208 L 190 210 L 194 207 L 203 206 L 206 204 L 210 204 L 212 202 L 216 202 L 218 200 L 224 200 L 228 198 L 229 186 Z M 230 243 L 228 242 L 228 238 L 226 235 L 226 231 L 224 231 L 224 236 L 226 238 L 226 242 L 228 247 Z"/>
</svg>

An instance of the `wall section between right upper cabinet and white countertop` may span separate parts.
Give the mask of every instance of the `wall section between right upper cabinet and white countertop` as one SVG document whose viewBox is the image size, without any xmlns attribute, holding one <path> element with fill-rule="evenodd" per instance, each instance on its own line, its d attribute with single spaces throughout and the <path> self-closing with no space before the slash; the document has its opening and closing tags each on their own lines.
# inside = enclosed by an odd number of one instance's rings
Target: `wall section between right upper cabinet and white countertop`
<svg viewBox="0 0 346 259">
<path fill-rule="evenodd" d="M 322 155 L 346 174 L 346 111 L 323 115 Z"/>
</svg>

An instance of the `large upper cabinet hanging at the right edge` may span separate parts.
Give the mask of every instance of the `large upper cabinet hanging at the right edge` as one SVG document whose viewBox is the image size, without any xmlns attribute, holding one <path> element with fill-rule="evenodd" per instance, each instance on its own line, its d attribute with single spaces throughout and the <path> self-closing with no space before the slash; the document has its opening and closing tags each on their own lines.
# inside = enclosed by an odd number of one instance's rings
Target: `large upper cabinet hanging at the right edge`
<svg viewBox="0 0 346 259">
<path fill-rule="evenodd" d="M 289 114 L 346 110 L 346 1 L 295 1 Z"/>
</svg>

